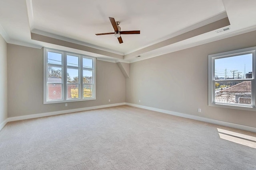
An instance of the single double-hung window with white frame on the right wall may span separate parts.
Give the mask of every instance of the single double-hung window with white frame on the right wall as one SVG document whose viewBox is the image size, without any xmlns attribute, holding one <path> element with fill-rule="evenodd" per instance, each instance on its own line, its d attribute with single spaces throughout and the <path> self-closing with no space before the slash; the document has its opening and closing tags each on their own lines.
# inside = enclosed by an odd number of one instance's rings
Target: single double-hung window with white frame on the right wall
<svg viewBox="0 0 256 170">
<path fill-rule="evenodd" d="M 255 110 L 256 47 L 208 56 L 208 105 Z"/>
</svg>

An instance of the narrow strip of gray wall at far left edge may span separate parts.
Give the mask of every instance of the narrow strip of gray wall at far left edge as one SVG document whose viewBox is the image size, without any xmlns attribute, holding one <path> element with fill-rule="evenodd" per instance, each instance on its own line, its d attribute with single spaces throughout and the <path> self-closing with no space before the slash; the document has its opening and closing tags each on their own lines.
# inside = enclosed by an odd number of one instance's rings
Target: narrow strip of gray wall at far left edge
<svg viewBox="0 0 256 170">
<path fill-rule="evenodd" d="M 0 124 L 7 118 L 7 43 L 0 35 Z"/>
</svg>

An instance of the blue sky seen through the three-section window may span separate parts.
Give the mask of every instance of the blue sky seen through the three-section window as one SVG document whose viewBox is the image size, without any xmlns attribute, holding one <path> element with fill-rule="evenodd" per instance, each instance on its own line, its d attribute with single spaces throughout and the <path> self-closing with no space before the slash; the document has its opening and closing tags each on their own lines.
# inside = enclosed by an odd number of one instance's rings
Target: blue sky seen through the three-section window
<svg viewBox="0 0 256 170">
<path fill-rule="evenodd" d="M 78 59 L 79 58 L 77 56 L 67 55 L 67 65 L 78 66 Z M 48 51 L 48 63 L 62 64 L 62 54 Z M 92 68 L 92 59 L 83 58 L 83 67 Z M 61 68 L 58 67 L 53 67 L 53 69 L 61 70 Z M 69 74 L 70 78 L 73 79 L 74 77 L 78 76 L 78 69 L 67 68 L 67 73 Z M 92 76 L 92 71 L 83 70 L 83 76 Z"/>
</svg>

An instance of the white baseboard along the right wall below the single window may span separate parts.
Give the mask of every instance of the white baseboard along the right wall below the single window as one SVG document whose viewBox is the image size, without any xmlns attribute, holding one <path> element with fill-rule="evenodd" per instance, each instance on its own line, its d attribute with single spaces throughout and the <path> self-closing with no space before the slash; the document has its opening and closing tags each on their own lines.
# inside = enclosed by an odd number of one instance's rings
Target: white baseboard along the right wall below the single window
<svg viewBox="0 0 256 170">
<path fill-rule="evenodd" d="M 161 113 L 166 113 L 166 114 L 170 114 L 170 115 L 185 117 L 185 118 L 194 119 L 194 120 L 198 120 L 198 121 L 204 121 L 204 122 L 213 123 L 213 124 L 216 124 L 216 125 L 232 127 L 232 128 L 236 128 L 236 129 L 245 130 L 245 131 L 251 131 L 251 132 L 256 133 L 256 127 L 251 127 L 251 126 L 246 126 L 246 125 L 239 125 L 239 124 L 236 124 L 236 123 L 229 123 L 229 122 L 226 122 L 226 121 L 208 119 L 208 118 L 205 118 L 205 117 L 188 115 L 188 114 L 184 114 L 184 113 L 178 113 L 178 112 L 164 110 L 164 109 L 157 109 L 157 108 L 148 107 L 148 106 L 141 106 L 141 105 L 137 105 L 137 104 L 126 103 L 126 105 L 139 107 L 139 108 L 142 108 L 142 109 L 148 109 L 148 110 L 152 110 L 152 111 L 158 111 L 158 112 L 161 112 Z"/>
</svg>

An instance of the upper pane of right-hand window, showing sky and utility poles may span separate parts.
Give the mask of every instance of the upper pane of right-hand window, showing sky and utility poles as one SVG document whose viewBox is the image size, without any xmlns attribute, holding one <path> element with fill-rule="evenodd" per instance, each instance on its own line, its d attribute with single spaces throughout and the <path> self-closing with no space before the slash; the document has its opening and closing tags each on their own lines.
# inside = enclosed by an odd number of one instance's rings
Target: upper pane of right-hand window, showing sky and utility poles
<svg viewBox="0 0 256 170">
<path fill-rule="evenodd" d="M 215 80 L 252 78 L 252 54 L 215 59 L 214 62 Z"/>
</svg>

